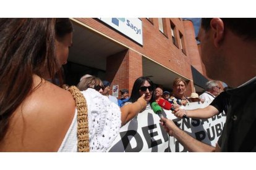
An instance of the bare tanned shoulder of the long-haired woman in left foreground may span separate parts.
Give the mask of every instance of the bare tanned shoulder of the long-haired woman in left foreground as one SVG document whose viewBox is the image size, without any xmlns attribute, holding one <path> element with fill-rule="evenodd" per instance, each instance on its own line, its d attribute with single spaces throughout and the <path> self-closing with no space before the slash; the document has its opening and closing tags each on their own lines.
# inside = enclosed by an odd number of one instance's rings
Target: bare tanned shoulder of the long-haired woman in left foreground
<svg viewBox="0 0 256 170">
<path fill-rule="evenodd" d="M 74 113 L 75 102 L 70 92 L 48 81 L 41 83 L 25 99 L 16 114 L 16 121 L 19 121 L 26 131 L 23 137 L 25 148 L 38 152 L 57 151 Z M 24 123 L 20 116 L 23 116 Z"/>
</svg>

